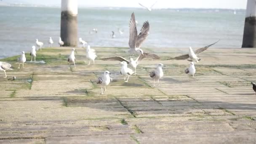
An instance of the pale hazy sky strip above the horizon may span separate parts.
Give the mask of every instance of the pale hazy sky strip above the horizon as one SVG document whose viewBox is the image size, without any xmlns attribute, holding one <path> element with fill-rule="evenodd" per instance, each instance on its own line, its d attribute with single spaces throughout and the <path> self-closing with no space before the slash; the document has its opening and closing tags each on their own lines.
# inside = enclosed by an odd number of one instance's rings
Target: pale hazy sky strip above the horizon
<svg viewBox="0 0 256 144">
<path fill-rule="evenodd" d="M 5 0 L 3 0 L 5 1 Z M 2 2 L 3 2 L 2 1 Z M 60 5 L 61 0 L 6 0 L 13 3 Z M 140 7 L 156 0 L 78 0 L 79 7 Z M 158 0 L 154 8 L 246 8 L 247 0 Z"/>
</svg>

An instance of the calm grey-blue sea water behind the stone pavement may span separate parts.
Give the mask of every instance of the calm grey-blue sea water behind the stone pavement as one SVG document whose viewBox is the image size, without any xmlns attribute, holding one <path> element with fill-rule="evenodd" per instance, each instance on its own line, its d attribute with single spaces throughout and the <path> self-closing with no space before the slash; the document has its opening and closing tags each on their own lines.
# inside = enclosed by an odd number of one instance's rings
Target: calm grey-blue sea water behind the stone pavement
<svg viewBox="0 0 256 144">
<path fill-rule="evenodd" d="M 216 40 L 217 48 L 240 48 L 243 39 L 245 11 L 153 10 L 79 8 L 78 37 L 91 47 L 128 47 L 128 24 L 134 11 L 139 22 L 150 24 L 149 37 L 142 47 L 203 47 Z M 58 46 L 60 8 L 0 7 L 0 58 L 30 51 L 39 39 L 48 46 L 52 37 Z M 123 29 L 120 35 L 117 28 Z M 90 34 L 93 28 L 97 34 Z M 111 38 L 112 32 L 116 37 Z"/>
</svg>

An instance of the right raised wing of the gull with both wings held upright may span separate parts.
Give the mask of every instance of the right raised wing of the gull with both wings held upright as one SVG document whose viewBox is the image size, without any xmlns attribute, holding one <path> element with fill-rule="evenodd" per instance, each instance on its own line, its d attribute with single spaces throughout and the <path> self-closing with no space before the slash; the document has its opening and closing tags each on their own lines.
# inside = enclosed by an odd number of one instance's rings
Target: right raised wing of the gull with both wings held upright
<svg viewBox="0 0 256 144">
<path fill-rule="evenodd" d="M 144 42 L 144 40 L 146 40 L 147 36 L 149 35 L 148 32 L 149 32 L 149 22 L 145 21 L 143 26 L 141 27 L 141 32 L 138 35 L 136 48 L 139 48 L 141 44 Z"/>
</svg>

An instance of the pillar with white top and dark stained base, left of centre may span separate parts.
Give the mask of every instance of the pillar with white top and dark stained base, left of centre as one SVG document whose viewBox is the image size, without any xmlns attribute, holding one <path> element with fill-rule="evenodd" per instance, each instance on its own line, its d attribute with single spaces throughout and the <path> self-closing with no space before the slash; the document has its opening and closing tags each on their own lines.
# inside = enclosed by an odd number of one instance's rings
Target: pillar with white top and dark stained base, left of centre
<svg viewBox="0 0 256 144">
<path fill-rule="evenodd" d="M 61 0 L 61 40 L 77 46 L 77 0 Z"/>
</svg>

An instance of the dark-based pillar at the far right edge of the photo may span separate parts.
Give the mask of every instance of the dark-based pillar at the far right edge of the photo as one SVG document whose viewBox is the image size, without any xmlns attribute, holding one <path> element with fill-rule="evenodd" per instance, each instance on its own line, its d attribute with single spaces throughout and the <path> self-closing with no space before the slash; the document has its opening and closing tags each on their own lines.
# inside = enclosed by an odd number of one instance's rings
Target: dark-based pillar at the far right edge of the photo
<svg viewBox="0 0 256 144">
<path fill-rule="evenodd" d="M 256 48 L 256 0 L 247 0 L 242 48 Z"/>
</svg>

